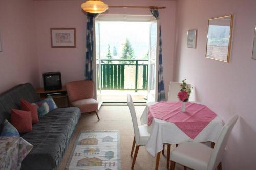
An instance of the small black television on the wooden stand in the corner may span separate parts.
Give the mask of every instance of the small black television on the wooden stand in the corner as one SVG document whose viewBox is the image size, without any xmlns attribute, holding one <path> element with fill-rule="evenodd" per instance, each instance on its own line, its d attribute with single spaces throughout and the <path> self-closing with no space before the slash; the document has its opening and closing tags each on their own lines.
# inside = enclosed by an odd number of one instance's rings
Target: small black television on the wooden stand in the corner
<svg viewBox="0 0 256 170">
<path fill-rule="evenodd" d="M 60 72 L 45 72 L 42 74 L 42 78 L 44 79 L 44 89 L 46 91 L 62 88 Z"/>
</svg>

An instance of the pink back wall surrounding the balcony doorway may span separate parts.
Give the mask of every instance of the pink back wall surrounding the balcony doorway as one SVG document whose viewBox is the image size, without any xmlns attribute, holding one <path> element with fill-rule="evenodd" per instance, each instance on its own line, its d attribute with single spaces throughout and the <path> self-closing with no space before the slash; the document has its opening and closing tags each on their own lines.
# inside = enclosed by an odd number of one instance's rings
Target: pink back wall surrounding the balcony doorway
<svg viewBox="0 0 256 170">
<path fill-rule="evenodd" d="M 35 1 L 37 55 L 40 82 L 42 72 L 61 71 L 62 83 L 84 79 L 84 54 L 86 38 L 86 15 L 82 12 L 84 1 Z M 163 67 L 165 88 L 173 77 L 175 39 L 175 1 L 118 1 L 106 0 L 108 5 L 166 6 L 159 10 L 163 35 Z M 109 9 L 104 14 L 151 14 L 148 9 Z M 51 27 L 75 27 L 77 48 L 51 48 Z"/>
</svg>

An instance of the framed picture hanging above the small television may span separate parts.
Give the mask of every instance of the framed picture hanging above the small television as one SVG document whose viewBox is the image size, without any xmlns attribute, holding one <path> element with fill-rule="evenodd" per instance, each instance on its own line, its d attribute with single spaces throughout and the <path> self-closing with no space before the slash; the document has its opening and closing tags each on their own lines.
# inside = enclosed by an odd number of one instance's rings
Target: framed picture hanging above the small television
<svg viewBox="0 0 256 170">
<path fill-rule="evenodd" d="M 51 28 L 52 48 L 76 48 L 75 28 Z"/>
</svg>

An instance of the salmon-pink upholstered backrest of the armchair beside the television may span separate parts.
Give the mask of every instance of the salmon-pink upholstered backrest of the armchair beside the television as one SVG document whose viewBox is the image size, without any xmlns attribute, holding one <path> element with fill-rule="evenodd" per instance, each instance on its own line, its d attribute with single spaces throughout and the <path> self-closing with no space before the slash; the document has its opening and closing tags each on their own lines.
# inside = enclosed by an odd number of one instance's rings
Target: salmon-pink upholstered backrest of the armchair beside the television
<svg viewBox="0 0 256 170">
<path fill-rule="evenodd" d="M 93 98 L 94 83 L 91 80 L 82 80 L 66 83 L 69 101 Z"/>
</svg>

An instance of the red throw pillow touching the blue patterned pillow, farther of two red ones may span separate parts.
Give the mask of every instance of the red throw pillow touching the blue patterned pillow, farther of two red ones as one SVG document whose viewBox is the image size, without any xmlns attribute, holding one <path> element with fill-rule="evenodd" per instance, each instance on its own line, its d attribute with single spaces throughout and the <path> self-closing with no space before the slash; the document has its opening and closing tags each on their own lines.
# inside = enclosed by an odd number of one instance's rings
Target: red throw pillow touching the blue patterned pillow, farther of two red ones
<svg viewBox="0 0 256 170">
<path fill-rule="evenodd" d="M 29 103 L 25 99 L 20 99 L 20 105 L 22 106 L 22 110 L 31 111 L 31 117 L 32 117 L 33 124 L 39 122 L 36 105 Z"/>
</svg>

